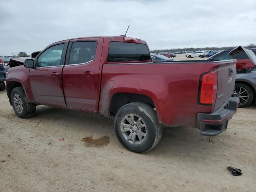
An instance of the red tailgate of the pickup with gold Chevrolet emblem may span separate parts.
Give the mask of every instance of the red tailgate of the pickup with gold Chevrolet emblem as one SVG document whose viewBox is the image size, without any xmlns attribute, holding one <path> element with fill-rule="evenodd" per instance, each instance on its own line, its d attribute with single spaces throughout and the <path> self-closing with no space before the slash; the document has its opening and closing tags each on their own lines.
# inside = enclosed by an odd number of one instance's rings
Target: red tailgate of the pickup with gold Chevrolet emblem
<svg viewBox="0 0 256 192">
<path fill-rule="evenodd" d="M 218 87 L 214 111 L 233 94 L 236 81 L 236 60 L 218 61 Z"/>
</svg>

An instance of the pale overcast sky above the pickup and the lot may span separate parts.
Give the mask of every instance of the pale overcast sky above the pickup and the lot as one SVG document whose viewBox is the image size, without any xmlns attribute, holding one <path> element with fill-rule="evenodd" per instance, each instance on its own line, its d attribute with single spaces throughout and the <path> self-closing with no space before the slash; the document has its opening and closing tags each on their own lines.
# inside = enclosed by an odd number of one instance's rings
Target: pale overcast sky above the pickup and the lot
<svg viewBox="0 0 256 192">
<path fill-rule="evenodd" d="M 162 48 L 256 44 L 256 0 L 0 0 L 0 55 L 127 36 Z"/>
</svg>

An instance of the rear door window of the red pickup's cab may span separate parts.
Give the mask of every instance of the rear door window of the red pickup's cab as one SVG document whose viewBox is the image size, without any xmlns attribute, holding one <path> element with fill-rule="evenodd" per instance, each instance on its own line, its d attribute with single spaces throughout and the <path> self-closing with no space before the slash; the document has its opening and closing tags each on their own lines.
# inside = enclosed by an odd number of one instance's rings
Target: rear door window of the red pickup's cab
<svg viewBox="0 0 256 192">
<path fill-rule="evenodd" d="M 73 42 L 68 64 L 84 64 L 94 60 L 96 48 L 96 41 Z"/>
</svg>

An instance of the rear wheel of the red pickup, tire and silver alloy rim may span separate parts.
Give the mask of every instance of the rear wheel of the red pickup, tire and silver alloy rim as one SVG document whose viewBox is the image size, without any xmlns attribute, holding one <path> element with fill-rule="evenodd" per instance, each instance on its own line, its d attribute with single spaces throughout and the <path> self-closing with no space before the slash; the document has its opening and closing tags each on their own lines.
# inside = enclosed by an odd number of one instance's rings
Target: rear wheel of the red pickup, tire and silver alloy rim
<svg viewBox="0 0 256 192">
<path fill-rule="evenodd" d="M 121 123 L 126 126 L 121 126 Z M 122 106 L 116 113 L 114 127 L 120 143 L 126 149 L 136 153 L 148 152 L 162 137 L 162 126 L 158 124 L 156 111 L 142 102 L 132 102 Z"/>
</svg>

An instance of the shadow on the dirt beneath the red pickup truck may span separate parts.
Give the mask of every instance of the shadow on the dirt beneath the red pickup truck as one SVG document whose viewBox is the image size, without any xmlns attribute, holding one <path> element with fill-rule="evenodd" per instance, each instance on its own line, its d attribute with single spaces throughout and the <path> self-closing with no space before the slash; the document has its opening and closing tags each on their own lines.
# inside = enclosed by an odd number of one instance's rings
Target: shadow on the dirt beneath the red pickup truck
<svg viewBox="0 0 256 192">
<path fill-rule="evenodd" d="M 116 138 L 113 118 L 38 106 L 36 116 L 33 119 L 35 121 L 40 120 L 39 123 L 44 124 L 45 127 L 55 127 L 58 132 L 66 135 L 71 134 L 73 137 L 80 137 L 80 139 L 88 136 L 94 138 L 109 136 L 111 144 L 115 148 L 124 149 Z M 206 151 L 210 153 L 212 147 L 216 147 L 216 145 L 219 149 L 222 148 L 222 145 L 218 144 L 220 141 L 221 136 L 217 136 L 212 142 L 209 142 L 209 137 L 201 136 L 200 130 L 196 128 L 164 127 L 159 144 L 144 155 L 190 156 L 191 158 L 193 153 L 204 153 Z M 125 150 L 125 153 L 130 152 Z"/>
</svg>

